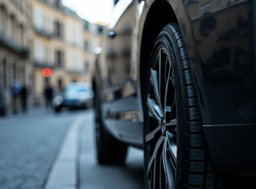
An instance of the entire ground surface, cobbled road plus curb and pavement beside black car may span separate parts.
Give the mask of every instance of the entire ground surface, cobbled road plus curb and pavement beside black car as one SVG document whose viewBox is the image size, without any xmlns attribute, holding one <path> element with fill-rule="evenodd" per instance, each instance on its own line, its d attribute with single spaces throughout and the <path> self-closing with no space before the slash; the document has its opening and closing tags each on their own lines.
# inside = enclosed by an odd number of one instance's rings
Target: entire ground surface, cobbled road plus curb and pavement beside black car
<svg viewBox="0 0 256 189">
<path fill-rule="evenodd" d="M 143 152 L 123 166 L 97 163 L 93 110 L 43 109 L 0 118 L 0 188 L 144 188 Z"/>
</svg>

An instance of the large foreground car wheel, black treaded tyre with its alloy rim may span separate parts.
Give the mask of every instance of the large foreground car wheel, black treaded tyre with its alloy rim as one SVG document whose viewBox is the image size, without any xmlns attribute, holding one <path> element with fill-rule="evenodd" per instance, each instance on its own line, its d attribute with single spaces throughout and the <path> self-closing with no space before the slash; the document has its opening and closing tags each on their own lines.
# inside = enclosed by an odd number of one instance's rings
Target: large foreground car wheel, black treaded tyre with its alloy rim
<svg viewBox="0 0 256 189">
<path fill-rule="evenodd" d="M 224 180 L 216 177 L 204 139 L 194 81 L 178 23 L 164 26 L 156 39 L 145 91 L 146 188 L 223 187 Z"/>
</svg>

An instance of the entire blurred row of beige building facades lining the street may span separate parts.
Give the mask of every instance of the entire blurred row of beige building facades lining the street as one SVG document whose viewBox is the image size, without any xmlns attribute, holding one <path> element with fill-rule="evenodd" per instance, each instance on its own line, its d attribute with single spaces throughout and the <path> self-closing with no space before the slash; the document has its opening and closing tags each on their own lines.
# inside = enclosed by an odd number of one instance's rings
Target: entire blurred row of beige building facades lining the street
<svg viewBox="0 0 256 189">
<path fill-rule="evenodd" d="M 58 93 L 68 82 L 90 81 L 103 25 L 79 18 L 61 0 L 1 0 L 0 93 L 6 105 L 11 107 L 14 79 L 27 86 L 30 106 L 44 103 L 46 82 Z M 49 77 L 44 68 L 51 69 Z"/>
</svg>

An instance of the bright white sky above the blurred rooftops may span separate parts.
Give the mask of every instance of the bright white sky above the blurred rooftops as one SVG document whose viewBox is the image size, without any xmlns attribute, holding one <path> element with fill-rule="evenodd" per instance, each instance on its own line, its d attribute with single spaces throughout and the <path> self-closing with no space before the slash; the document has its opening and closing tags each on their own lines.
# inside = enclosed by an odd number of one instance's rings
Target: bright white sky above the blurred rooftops
<svg viewBox="0 0 256 189">
<path fill-rule="evenodd" d="M 78 16 L 91 23 L 108 24 L 114 0 L 62 0 L 62 4 L 76 11 Z"/>
</svg>

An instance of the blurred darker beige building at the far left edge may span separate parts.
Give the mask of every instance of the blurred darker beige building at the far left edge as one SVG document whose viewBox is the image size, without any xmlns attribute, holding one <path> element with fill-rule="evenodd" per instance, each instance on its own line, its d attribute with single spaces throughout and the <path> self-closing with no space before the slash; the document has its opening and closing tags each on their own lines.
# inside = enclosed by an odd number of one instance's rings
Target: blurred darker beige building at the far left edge
<svg viewBox="0 0 256 189">
<path fill-rule="evenodd" d="M 10 106 L 10 86 L 19 79 L 29 90 L 33 102 L 34 72 L 32 57 L 31 0 L 0 1 L 0 88 Z"/>
</svg>

